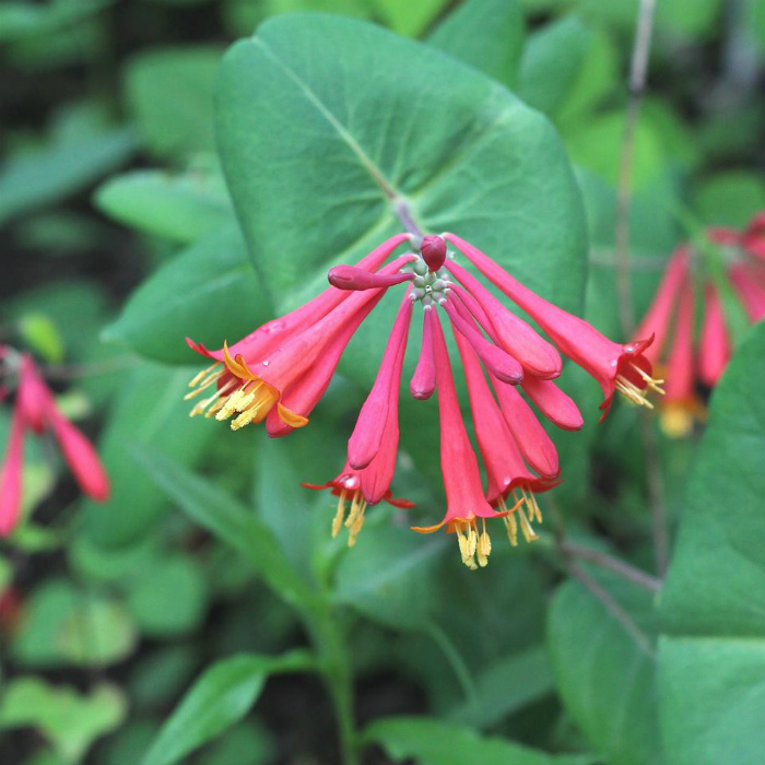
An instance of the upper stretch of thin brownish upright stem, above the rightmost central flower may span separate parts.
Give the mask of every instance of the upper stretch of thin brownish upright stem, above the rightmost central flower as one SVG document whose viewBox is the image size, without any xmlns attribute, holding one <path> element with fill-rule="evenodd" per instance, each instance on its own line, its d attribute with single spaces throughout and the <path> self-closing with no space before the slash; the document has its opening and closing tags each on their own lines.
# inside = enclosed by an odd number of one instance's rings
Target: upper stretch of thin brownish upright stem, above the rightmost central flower
<svg viewBox="0 0 765 765">
<path fill-rule="evenodd" d="M 646 90 L 648 54 L 654 31 L 654 11 L 656 0 L 640 0 L 640 10 L 635 31 L 635 45 L 629 68 L 629 102 L 624 120 L 624 134 L 619 160 L 619 181 L 616 186 L 616 287 L 619 294 L 619 314 L 622 331 L 626 340 L 635 329 L 629 286 L 629 208 L 632 204 L 632 175 L 635 158 L 635 133 L 640 106 Z"/>
</svg>

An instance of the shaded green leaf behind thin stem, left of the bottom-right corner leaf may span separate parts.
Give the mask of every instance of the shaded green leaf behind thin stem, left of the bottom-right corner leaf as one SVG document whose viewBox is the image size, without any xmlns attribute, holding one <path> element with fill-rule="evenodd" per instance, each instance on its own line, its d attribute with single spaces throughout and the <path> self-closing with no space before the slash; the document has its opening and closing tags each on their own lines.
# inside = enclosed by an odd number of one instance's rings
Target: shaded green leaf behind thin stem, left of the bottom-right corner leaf
<svg viewBox="0 0 765 765">
<path fill-rule="evenodd" d="M 610 763 L 658 765 L 652 595 L 613 576 L 599 576 L 598 582 L 643 636 L 579 582 L 566 582 L 548 620 L 557 688 L 590 744 Z"/>
</svg>

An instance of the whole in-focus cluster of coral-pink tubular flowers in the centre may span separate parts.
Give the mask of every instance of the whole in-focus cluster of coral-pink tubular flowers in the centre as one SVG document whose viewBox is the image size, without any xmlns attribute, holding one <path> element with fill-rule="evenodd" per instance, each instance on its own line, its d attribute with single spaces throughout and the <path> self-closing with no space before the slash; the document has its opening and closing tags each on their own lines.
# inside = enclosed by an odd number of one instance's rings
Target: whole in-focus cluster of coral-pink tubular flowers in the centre
<svg viewBox="0 0 765 765">
<path fill-rule="evenodd" d="M 385 264 L 402 245 L 413 251 Z M 448 245 L 457 248 L 463 263 L 448 252 Z M 466 266 L 507 295 L 549 340 L 510 311 Z M 514 545 L 519 529 L 528 541 L 536 538 L 533 525 L 542 520 L 536 494 L 556 485 L 560 467 L 555 446 L 529 402 L 557 427 L 576 431 L 582 425 L 576 404 L 554 381 L 562 372 L 561 353 L 600 384 L 603 416 L 616 390 L 637 403 L 648 403 L 646 393 L 659 390 L 644 354 L 650 338 L 627 345 L 611 342 L 455 234 L 424 238 L 399 234 L 355 266 L 331 269 L 328 278 L 331 286 L 316 298 L 231 348 L 224 343 L 221 350 L 209 351 L 188 340 L 214 363 L 191 380 L 193 390 L 187 398 L 203 396 L 192 415 L 233 417 L 234 429 L 264 422 L 269 435 L 279 437 L 302 427 L 356 329 L 390 287 L 404 284 L 343 469 L 328 483 L 304 484 L 328 489 L 338 497 L 332 533 L 344 523 L 350 544 L 368 505 L 385 501 L 412 506 L 392 498 L 390 485 L 399 444 L 400 381 L 415 306 L 422 308 L 423 339 L 410 391 L 415 399 L 438 395 L 447 508 L 439 523 L 414 530 L 429 532 L 445 526 L 457 534 L 462 562 L 470 568 L 487 562 L 487 519 L 502 519 Z M 486 489 L 460 412 L 442 318 L 451 328 L 462 362 Z"/>
</svg>

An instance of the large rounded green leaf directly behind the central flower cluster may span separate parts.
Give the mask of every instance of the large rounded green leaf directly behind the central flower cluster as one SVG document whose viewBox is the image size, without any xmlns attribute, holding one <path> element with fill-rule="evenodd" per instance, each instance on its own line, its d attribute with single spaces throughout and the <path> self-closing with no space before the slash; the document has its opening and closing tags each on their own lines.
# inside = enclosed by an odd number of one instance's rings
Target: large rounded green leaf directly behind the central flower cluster
<svg viewBox="0 0 765 765">
<path fill-rule="evenodd" d="M 425 232 L 458 232 L 580 307 L 585 228 L 560 141 L 476 70 L 362 22 L 280 16 L 228 50 L 216 104 L 224 173 L 278 308 L 401 231 L 396 200 Z M 362 327 L 349 375 L 369 382 L 393 311 Z"/>
</svg>

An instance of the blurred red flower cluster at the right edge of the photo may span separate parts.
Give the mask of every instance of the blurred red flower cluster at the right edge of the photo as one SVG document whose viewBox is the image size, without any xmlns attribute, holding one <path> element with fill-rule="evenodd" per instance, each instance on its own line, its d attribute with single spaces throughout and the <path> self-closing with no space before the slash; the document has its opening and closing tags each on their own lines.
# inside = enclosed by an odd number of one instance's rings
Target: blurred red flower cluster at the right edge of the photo
<svg viewBox="0 0 765 765">
<path fill-rule="evenodd" d="M 655 334 L 645 355 L 667 372 L 661 425 L 672 436 L 687 435 L 694 421 L 704 419 L 697 382 L 714 388 L 730 360 L 731 339 L 720 286 L 740 301 L 751 322 L 765 317 L 765 213 L 756 215 L 743 232 L 709 228 L 706 236 L 723 264 L 720 281 L 704 268 L 692 245 L 680 246 L 636 331 L 636 337 Z M 703 311 L 695 338 L 697 301 Z"/>
</svg>

